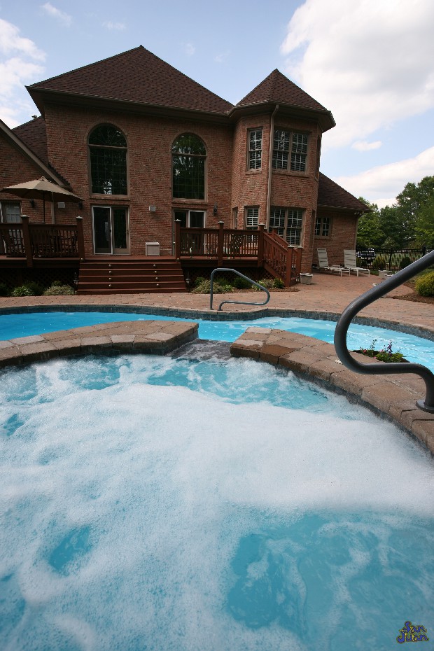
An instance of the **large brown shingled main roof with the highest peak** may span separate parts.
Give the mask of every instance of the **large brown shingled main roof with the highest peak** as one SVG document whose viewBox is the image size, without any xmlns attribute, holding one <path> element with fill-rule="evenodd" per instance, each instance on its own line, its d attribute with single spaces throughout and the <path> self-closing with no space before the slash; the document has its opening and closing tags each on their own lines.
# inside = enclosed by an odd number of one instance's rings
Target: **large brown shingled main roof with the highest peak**
<svg viewBox="0 0 434 651">
<path fill-rule="evenodd" d="M 31 86 L 190 111 L 228 113 L 232 104 L 190 79 L 143 45 Z"/>
</svg>

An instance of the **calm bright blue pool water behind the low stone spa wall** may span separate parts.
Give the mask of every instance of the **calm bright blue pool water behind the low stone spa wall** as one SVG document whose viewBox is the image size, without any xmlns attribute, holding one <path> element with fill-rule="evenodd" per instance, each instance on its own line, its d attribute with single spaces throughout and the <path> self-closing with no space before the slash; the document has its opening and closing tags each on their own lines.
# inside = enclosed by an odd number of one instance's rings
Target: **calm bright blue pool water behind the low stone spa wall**
<svg viewBox="0 0 434 651">
<path fill-rule="evenodd" d="M 197 318 L 179 319 L 173 316 L 132 314 L 130 312 L 34 312 L 25 314 L 3 314 L 0 316 L 0 339 L 40 335 L 43 332 L 68 330 L 82 325 L 109 323 L 111 321 L 136 321 L 161 319 L 163 321 L 198 321 L 199 337 L 218 341 L 234 342 L 251 325 L 264 328 L 281 328 L 301 335 L 316 337 L 324 342 L 333 342 L 335 322 L 309 318 L 280 318 L 269 316 L 253 321 L 200 321 Z M 411 362 L 419 362 L 434 370 L 434 342 L 404 332 L 374 328 L 372 325 L 353 324 L 349 329 L 349 349 L 369 348 L 377 339 L 376 349 L 393 342 L 393 350 L 400 349 Z"/>
</svg>

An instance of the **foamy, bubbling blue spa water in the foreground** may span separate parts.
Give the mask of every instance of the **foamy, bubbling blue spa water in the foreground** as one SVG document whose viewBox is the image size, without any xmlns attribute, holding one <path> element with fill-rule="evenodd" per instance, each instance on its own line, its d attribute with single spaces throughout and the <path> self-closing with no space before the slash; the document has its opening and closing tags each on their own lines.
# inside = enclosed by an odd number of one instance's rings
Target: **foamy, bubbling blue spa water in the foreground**
<svg viewBox="0 0 434 651">
<path fill-rule="evenodd" d="M 251 360 L 0 381 L 2 651 L 388 651 L 434 621 L 434 470 Z"/>
</svg>

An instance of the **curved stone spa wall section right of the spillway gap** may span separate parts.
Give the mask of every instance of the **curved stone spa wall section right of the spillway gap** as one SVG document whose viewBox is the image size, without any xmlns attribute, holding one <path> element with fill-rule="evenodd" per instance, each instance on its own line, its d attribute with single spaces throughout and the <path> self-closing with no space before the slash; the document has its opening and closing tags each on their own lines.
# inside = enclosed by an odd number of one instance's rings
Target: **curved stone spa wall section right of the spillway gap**
<svg viewBox="0 0 434 651">
<path fill-rule="evenodd" d="M 337 359 L 332 344 L 272 328 L 251 326 L 230 346 L 230 352 L 235 357 L 248 357 L 287 367 L 307 379 L 316 379 L 338 393 L 345 393 L 377 414 L 385 414 L 434 454 L 434 414 L 416 407 L 416 400 L 425 398 L 426 393 L 425 383 L 419 375 L 354 373 Z M 363 355 L 352 354 L 360 363 L 366 363 Z M 369 361 L 382 364 L 377 360 Z"/>
</svg>

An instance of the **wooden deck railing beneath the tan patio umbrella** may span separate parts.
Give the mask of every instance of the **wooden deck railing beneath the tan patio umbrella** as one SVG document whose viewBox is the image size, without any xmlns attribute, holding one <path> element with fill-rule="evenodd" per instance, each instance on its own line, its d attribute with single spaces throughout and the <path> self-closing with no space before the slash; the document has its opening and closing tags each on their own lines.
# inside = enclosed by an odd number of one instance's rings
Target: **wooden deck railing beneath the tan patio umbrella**
<svg viewBox="0 0 434 651">
<path fill-rule="evenodd" d="M 80 258 L 84 260 L 83 219 L 77 224 L 29 224 L 27 215 L 22 223 L 0 224 L 0 255 L 26 258 L 32 267 L 35 258 Z"/>
</svg>

